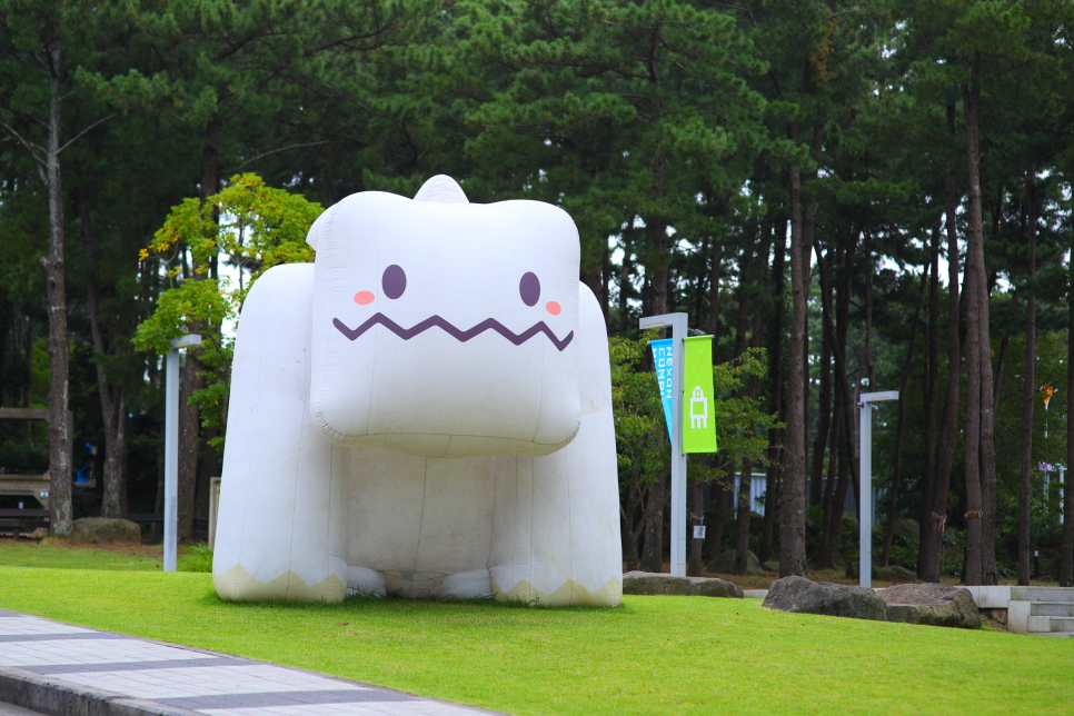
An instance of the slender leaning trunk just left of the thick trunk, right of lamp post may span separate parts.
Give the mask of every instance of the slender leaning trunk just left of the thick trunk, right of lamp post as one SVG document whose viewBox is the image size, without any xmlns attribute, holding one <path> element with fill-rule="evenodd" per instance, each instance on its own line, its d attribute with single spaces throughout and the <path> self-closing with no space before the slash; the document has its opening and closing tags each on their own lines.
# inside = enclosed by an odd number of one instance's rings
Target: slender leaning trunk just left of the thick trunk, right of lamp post
<svg viewBox="0 0 1074 716">
<path fill-rule="evenodd" d="M 947 131 L 955 133 L 955 107 L 947 106 Z M 958 310 L 958 220 L 955 188 L 955 162 L 945 170 L 944 223 L 947 229 L 947 388 L 943 422 L 936 447 L 936 476 L 928 510 L 928 538 L 922 543 L 918 576 L 925 581 L 939 581 L 941 553 L 947 525 L 947 488 L 958 442 L 958 389 L 962 375 L 962 344 Z"/>
</svg>

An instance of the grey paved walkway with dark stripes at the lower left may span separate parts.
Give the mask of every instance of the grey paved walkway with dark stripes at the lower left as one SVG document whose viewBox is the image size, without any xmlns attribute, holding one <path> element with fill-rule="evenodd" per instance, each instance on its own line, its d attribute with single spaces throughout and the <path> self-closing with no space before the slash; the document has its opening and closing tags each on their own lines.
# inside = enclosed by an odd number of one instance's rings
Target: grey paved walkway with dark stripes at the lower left
<svg viewBox="0 0 1074 716">
<path fill-rule="evenodd" d="M 491 714 L 312 672 L 2 609 L 0 702 L 64 716 Z"/>
</svg>

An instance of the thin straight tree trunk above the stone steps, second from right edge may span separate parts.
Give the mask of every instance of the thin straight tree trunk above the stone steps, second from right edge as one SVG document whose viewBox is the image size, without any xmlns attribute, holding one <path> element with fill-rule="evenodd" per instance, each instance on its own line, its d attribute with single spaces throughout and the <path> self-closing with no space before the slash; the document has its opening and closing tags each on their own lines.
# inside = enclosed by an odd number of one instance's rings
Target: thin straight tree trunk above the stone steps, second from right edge
<svg viewBox="0 0 1074 716">
<path fill-rule="evenodd" d="M 1025 368 L 1022 378 L 1022 441 L 1021 474 L 1018 476 L 1018 584 L 1030 584 L 1030 478 L 1033 475 L 1033 409 L 1036 402 L 1036 297 L 1033 278 L 1036 276 L 1036 206 L 1033 169 L 1030 169 L 1025 201 L 1025 231 L 1028 245 L 1030 296 L 1025 306 Z M 1067 337 L 1070 339 L 1070 337 Z M 1001 368 L 1002 370 L 1002 368 Z"/>
</svg>

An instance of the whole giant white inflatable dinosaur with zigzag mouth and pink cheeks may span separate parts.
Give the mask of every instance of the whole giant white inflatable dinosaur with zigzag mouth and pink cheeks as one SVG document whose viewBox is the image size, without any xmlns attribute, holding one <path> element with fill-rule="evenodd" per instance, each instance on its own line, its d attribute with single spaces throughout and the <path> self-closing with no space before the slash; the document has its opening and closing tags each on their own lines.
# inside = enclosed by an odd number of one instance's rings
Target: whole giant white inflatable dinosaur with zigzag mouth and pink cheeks
<svg viewBox="0 0 1074 716">
<path fill-rule="evenodd" d="M 617 605 L 606 330 L 570 218 L 435 177 L 307 241 L 239 321 L 220 597 Z"/>
</svg>

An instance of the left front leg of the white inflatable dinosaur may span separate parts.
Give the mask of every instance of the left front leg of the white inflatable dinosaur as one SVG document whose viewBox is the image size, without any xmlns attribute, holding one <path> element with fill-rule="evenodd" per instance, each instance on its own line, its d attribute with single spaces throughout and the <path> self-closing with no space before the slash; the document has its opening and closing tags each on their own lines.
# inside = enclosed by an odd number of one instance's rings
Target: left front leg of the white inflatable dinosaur
<svg viewBox="0 0 1074 716">
<path fill-rule="evenodd" d="M 310 419 L 314 266 L 278 266 L 242 308 L 212 583 L 229 601 L 346 596 L 344 448 Z"/>
</svg>

